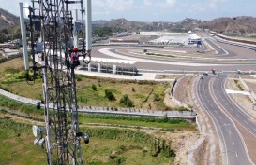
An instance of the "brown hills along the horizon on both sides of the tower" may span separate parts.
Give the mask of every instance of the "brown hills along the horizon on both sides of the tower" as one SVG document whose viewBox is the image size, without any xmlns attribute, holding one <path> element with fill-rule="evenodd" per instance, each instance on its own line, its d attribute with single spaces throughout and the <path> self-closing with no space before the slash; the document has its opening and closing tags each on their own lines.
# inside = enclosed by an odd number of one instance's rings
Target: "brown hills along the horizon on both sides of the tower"
<svg viewBox="0 0 256 165">
<path fill-rule="evenodd" d="M 209 29 L 220 34 L 253 34 L 256 33 L 256 18 L 241 16 L 218 18 L 212 21 L 199 21 L 187 18 L 179 22 L 128 21 L 124 18 L 111 21 L 93 21 L 93 34 L 98 36 L 109 36 L 116 32 L 188 32 L 196 28 Z M 20 37 L 19 17 L 0 8 L 0 43 Z"/>
</svg>

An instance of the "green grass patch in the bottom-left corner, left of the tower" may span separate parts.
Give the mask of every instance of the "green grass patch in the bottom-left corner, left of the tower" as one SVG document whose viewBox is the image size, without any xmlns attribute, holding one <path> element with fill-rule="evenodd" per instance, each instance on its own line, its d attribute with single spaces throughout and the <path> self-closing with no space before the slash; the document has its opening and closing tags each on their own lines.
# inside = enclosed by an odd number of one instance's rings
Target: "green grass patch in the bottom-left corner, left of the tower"
<svg viewBox="0 0 256 165">
<path fill-rule="evenodd" d="M 32 127 L 0 117 L 1 165 L 46 164 L 45 154 L 33 144 Z"/>
</svg>

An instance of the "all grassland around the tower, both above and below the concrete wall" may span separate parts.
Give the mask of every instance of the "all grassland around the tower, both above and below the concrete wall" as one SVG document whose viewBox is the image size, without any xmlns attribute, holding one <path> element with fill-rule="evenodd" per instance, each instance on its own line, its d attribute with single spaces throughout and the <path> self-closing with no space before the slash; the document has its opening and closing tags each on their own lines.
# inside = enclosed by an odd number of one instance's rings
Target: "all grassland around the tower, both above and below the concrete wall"
<svg viewBox="0 0 256 165">
<path fill-rule="evenodd" d="M 42 98 L 41 79 L 36 80 L 33 86 L 24 80 L 23 59 L 3 62 L 0 66 L 1 89 L 28 98 Z M 96 90 L 92 88 L 93 85 Z M 164 91 L 169 86 L 168 83 L 77 76 L 78 103 L 85 106 L 120 107 L 124 106 L 119 103 L 120 99 L 127 94 L 135 108 L 165 110 L 168 107 L 163 103 Z M 105 89 L 113 92 L 115 101 L 105 97 Z M 0 100 L 0 108 L 4 109 L 0 111 L 0 164 L 46 164 L 45 152 L 33 144 L 35 137 L 29 124 L 31 121 L 44 121 L 43 110 L 36 110 L 34 105 L 19 103 L 2 95 Z M 83 161 L 89 165 L 172 165 L 175 159 L 172 141 L 186 137 L 182 135 L 173 140 L 168 133 L 196 131 L 195 125 L 179 119 L 80 115 L 79 122 L 81 131 L 90 135 L 90 144 L 82 144 Z M 92 124 L 108 124 L 110 127 L 94 127 Z M 128 129 L 131 126 L 133 128 Z M 160 131 L 150 134 L 141 131 L 141 127 L 166 132 L 169 142 L 157 138 L 158 134 L 158 137 L 162 136 Z"/>
</svg>

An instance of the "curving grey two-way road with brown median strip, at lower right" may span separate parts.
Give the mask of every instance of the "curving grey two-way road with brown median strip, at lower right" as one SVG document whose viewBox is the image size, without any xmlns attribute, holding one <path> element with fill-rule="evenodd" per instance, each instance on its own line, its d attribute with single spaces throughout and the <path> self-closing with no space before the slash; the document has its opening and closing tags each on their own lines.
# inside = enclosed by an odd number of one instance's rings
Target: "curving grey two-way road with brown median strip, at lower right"
<svg viewBox="0 0 256 165">
<path fill-rule="evenodd" d="M 197 86 L 198 98 L 216 125 L 221 142 L 221 150 L 217 154 L 223 158 L 222 164 L 253 164 L 248 157 L 248 151 L 242 135 L 233 124 L 232 118 L 227 116 L 226 111 L 229 111 L 234 112 L 233 115 L 237 118 L 235 114 L 240 110 L 226 96 L 224 89 L 225 79 L 226 77 L 224 76 L 203 76 Z M 244 123 L 243 119 L 237 118 L 238 122 L 241 123 Z M 249 122 L 248 120 L 246 121 Z M 253 127 L 251 129 L 253 130 Z"/>
</svg>

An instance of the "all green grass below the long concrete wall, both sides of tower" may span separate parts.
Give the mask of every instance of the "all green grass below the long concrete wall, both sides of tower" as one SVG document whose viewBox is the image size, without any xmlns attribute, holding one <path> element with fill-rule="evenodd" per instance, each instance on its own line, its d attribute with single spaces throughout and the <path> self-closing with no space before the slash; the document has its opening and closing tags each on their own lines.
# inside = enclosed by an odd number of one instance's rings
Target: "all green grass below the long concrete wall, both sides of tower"
<svg viewBox="0 0 256 165">
<path fill-rule="evenodd" d="M 32 135 L 31 125 L 26 124 L 31 123 L 28 120 L 43 121 L 43 111 L 36 110 L 34 105 L 12 101 L 1 95 L 0 100 L 2 108 L 12 111 L 10 114 L 5 110 L 0 111 L 1 165 L 46 164 L 46 155 L 40 147 L 33 144 L 35 137 Z M 196 131 L 195 125 L 179 119 L 96 115 L 80 115 L 79 118 L 81 131 L 91 137 L 90 144 L 82 144 L 83 160 L 90 165 L 173 164 L 175 151 L 168 149 L 172 144 L 165 144 L 156 154 L 154 148 L 156 144 L 160 144 L 156 143 L 158 139 L 139 128 L 153 127 L 171 132 Z M 88 123 L 110 124 L 110 127 L 88 127 Z M 117 125 L 124 127 L 116 128 Z M 129 126 L 135 128 L 127 129 Z"/>
</svg>

